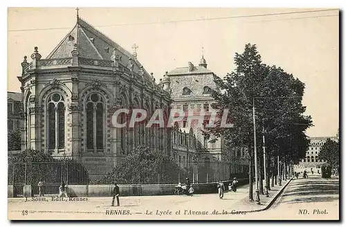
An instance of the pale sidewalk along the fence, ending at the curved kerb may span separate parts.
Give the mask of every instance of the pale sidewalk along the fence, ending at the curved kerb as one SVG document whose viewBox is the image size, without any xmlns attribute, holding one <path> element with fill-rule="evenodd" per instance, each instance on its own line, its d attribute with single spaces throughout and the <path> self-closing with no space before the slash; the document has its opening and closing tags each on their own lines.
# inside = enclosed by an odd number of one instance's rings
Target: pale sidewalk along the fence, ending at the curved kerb
<svg viewBox="0 0 346 227">
<path fill-rule="evenodd" d="M 147 216 L 150 218 L 165 218 L 166 216 L 156 215 L 158 211 L 170 210 L 174 214 L 181 210 L 179 218 L 191 219 L 191 215 L 184 215 L 185 210 L 203 212 L 208 211 L 209 215 L 197 215 L 193 216 L 194 219 L 215 219 L 217 216 L 212 212 L 218 211 L 217 215 L 222 215 L 223 212 L 227 212 L 231 215 L 231 212 L 256 212 L 263 210 L 271 205 L 272 201 L 276 199 L 278 193 L 281 192 L 284 185 L 289 183 L 282 181 L 282 186 L 275 185 L 269 191 L 269 197 L 260 195 L 261 205 L 257 205 L 255 201 L 248 201 L 248 185 L 239 186 L 237 192 L 225 192 L 224 199 L 219 199 L 217 188 L 215 186 L 215 193 L 212 194 L 194 194 L 192 197 L 186 195 L 163 195 L 163 196 L 141 196 L 141 197 L 120 197 L 120 207 L 111 207 L 110 197 L 89 197 L 86 201 L 51 201 L 49 197 L 46 197 L 47 201 L 25 201 L 25 198 L 10 198 L 8 199 L 8 211 L 11 215 L 21 215 L 22 210 L 29 210 L 30 217 L 39 217 L 39 215 L 60 215 L 61 217 L 104 217 L 111 219 L 111 216 L 107 215 L 107 210 L 120 209 L 129 210 L 132 217 L 140 218 L 140 215 L 144 215 L 147 211 L 153 212 L 153 215 Z M 255 192 L 255 186 L 253 187 Z M 254 195 L 255 198 L 255 195 Z M 71 216 L 71 214 L 73 214 Z M 87 215 L 87 216 L 83 216 Z M 101 216 L 100 216 L 101 215 Z M 228 215 L 227 215 L 228 216 Z M 224 217 L 227 217 L 224 215 Z M 236 215 L 237 218 L 242 215 Z M 175 217 L 175 216 L 174 216 Z M 178 216 L 176 216 L 178 217 Z M 125 218 L 125 217 L 124 217 Z M 232 219 L 236 218 L 232 215 Z"/>
</svg>

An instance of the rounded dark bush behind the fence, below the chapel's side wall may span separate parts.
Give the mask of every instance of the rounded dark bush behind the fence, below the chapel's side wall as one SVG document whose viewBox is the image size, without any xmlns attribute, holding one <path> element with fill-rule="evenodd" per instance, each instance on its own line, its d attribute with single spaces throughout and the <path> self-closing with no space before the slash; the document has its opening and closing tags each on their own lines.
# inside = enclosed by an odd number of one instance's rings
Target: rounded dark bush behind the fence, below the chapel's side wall
<svg viewBox="0 0 346 227">
<path fill-rule="evenodd" d="M 184 170 L 171 156 L 138 146 L 103 179 L 95 183 L 176 183 Z"/>
</svg>

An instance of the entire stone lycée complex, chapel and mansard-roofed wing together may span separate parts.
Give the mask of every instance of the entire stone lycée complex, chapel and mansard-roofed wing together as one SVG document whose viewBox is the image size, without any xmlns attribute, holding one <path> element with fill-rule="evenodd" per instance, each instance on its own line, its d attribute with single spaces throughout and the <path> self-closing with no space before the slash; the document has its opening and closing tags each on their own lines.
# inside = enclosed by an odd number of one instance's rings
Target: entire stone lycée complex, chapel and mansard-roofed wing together
<svg viewBox="0 0 346 227">
<path fill-rule="evenodd" d="M 74 28 L 60 44 L 42 58 L 35 47 L 21 63 L 21 100 L 24 103 L 21 149 L 38 149 L 55 158 L 71 157 L 87 167 L 89 174 L 102 175 L 137 145 L 172 156 L 185 176 L 194 181 L 228 179 L 230 173 L 247 173 L 236 154 L 233 163 L 224 159 L 221 138 L 206 138 L 199 128 L 114 127 L 118 109 L 145 109 L 149 116 L 171 108 L 208 112 L 217 90 L 215 73 L 202 57 L 199 66 L 165 73 L 156 84 L 137 59 L 77 15 Z M 118 122 L 127 122 L 120 115 Z M 244 167 L 244 168 L 243 168 Z M 180 173 L 179 173 L 180 174 Z"/>
</svg>

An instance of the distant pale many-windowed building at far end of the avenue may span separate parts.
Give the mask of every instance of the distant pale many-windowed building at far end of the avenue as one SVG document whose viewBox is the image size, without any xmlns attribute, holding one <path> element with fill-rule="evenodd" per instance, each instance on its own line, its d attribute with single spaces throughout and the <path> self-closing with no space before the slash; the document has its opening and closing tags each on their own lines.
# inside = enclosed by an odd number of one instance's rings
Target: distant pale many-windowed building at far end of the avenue
<svg viewBox="0 0 346 227">
<path fill-rule="evenodd" d="M 310 137 L 309 148 L 298 165 L 294 165 L 295 172 L 304 172 L 306 170 L 308 173 L 321 174 L 321 165 L 325 163 L 325 160 L 318 158 L 320 154 L 321 147 L 325 144 L 327 139 L 336 140 L 336 137 Z"/>
</svg>

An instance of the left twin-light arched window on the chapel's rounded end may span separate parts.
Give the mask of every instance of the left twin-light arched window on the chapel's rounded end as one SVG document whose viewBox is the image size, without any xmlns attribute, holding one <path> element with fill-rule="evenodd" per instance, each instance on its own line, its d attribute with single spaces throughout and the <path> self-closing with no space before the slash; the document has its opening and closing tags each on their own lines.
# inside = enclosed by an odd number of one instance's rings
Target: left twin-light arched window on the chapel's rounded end
<svg viewBox="0 0 346 227">
<path fill-rule="evenodd" d="M 65 147 L 65 103 L 60 93 L 48 97 L 48 149 Z"/>
</svg>

